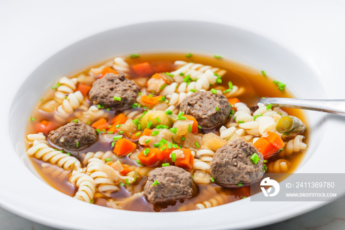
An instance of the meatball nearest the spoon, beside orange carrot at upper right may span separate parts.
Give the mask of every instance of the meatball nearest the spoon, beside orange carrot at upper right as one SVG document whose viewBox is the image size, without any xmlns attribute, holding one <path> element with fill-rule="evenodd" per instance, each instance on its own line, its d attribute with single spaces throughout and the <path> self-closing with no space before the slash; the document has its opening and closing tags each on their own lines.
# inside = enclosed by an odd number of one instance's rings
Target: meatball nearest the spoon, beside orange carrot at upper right
<svg viewBox="0 0 345 230">
<path fill-rule="evenodd" d="M 185 115 L 194 116 L 203 127 L 215 127 L 225 122 L 231 107 L 219 90 L 216 94 L 211 91 L 198 91 L 181 102 L 180 111 Z"/>
</svg>

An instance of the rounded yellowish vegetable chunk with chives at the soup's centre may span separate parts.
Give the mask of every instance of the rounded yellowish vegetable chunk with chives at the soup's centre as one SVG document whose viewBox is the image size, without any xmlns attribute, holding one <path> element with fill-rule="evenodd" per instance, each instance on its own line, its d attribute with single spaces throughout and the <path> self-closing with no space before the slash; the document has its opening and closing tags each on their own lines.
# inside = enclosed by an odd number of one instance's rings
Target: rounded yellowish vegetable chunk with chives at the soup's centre
<svg viewBox="0 0 345 230">
<path fill-rule="evenodd" d="M 150 110 L 140 119 L 141 130 L 147 127 L 149 121 L 152 122 L 150 126 L 151 129 L 157 125 L 167 125 L 169 128 L 173 126 L 173 122 L 168 118 L 168 115 L 160 110 Z"/>
</svg>

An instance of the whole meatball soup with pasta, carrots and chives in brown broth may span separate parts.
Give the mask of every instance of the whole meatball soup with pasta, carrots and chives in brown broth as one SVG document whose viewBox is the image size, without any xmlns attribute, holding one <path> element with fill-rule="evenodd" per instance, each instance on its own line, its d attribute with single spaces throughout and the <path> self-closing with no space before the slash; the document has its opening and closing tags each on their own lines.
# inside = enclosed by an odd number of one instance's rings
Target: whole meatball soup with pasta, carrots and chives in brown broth
<svg viewBox="0 0 345 230">
<path fill-rule="evenodd" d="M 117 57 L 42 93 L 27 153 L 50 186 L 97 205 L 226 204 L 250 196 L 264 172 L 293 172 L 307 148 L 304 115 L 261 97 L 292 95 L 264 71 L 219 56 Z"/>
</svg>

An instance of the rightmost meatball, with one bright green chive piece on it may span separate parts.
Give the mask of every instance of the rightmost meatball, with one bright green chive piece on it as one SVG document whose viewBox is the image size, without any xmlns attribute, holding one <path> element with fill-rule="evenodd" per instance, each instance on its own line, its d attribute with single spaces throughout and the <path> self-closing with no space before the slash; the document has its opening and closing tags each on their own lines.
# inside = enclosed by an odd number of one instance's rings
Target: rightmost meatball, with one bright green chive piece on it
<svg viewBox="0 0 345 230">
<path fill-rule="evenodd" d="M 256 153 L 259 161 L 255 164 L 250 157 Z M 217 150 L 210 162 L 211 177 L 223 185 L 250 183 L 263 175 L 264 158 L 250 143 L 237 139 Z"/>
</svg>

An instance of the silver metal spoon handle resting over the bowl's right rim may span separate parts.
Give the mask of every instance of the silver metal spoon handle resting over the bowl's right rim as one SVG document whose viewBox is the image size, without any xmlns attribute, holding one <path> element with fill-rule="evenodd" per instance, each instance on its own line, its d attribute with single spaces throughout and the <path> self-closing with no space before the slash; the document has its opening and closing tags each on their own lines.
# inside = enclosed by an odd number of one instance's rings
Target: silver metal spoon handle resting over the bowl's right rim
<svg viewBox="0 0 345 230">
<path fill-rule="evenodd" d="M 261 98 L 260 103 L 271 104 L 273 107 L 297 108 L 314 110 L 345 116 L 345 100 L 316 100 L 296 98 Z"/>
</svg>

